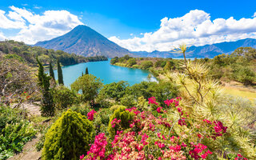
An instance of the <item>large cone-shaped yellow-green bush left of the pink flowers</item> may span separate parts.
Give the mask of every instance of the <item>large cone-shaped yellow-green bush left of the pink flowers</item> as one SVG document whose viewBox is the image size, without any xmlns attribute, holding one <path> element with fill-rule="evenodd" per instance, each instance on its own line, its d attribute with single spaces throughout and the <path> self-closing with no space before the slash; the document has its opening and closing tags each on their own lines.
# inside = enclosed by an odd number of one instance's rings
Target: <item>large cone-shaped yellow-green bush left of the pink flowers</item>
<svg viewBox="0 0 256 160">
<path fill-rule="evenodd" d="M 78 159 L 94 141 L 94 126 L 86 116 L 67 110 L 46 133 L 42 159 Z"/>
</svg>

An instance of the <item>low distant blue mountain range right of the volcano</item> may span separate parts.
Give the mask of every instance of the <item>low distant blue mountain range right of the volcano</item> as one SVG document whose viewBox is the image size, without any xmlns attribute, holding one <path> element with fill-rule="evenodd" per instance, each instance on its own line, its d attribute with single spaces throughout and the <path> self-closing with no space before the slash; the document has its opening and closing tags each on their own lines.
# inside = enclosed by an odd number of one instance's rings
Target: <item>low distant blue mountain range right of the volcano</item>
<svg viewBox="0 0 256 160">
<path fill-rule="evenodd" d="M 205 46 L 190 46 L 186 56 L 188 58 L 214 58 L 218 54 L 231 54 L 238 47 L 253 47 L 256 48 L 256 39 L 246 38 L 236 42 L 220 42 Z M 158 58 L 182 58 L 182 54 L 176 54 L 173 51 L 158 51 L 153 52 L 132 52 L 139 57 L 158 57 Z"/>
</svg>

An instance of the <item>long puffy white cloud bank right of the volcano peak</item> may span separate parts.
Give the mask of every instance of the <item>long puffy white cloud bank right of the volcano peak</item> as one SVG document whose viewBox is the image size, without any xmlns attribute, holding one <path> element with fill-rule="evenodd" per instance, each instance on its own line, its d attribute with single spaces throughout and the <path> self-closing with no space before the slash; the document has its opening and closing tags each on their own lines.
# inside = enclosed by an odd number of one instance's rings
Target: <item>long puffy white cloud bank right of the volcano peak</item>
<svg viewBox="0 0 256 160">
<path fill-rule="evenodd" d="M 202 46 L 216 42 L 230 42 L 242 38 L 256 38 L 256 18 L 235 20 L 217 18 L 203 10 L 191 10 L 180 18 L 162 18 L 160 28 L 154 33 L 145 33 L 142 38 L 109 39 L 128 50 L 171 50 L 182 42 Z"/>
</svg>

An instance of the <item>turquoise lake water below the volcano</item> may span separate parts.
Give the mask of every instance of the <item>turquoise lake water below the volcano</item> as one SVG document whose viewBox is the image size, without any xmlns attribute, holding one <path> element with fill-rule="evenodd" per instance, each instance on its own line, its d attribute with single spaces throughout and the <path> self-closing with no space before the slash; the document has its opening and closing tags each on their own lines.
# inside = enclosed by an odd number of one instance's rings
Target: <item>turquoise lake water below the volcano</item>
<svg viewBox="0 0 256 160">
<path fill-rule="evenodd" d="M 101 62 L 86 62 L 62 67 L 65 86 L 70 86 L 70 84 L 72 84 L 79 76 L 82 75 L 82 72 L 85 74 L 86 67 L 88 67 L 89 74 L 94 74 L 94 76 L 101 78 L 104 84 L 126 81 L 131 86 L 135 83 L 147 81 L 147 76 L 150 74 L 150 72 L 147 70 L 110 65 L 110 60 Z M 57 70 L 54 70 L 54 76 L 56 79 L 58 79 Z M 152 78 L 150 81 L 155 81 L 155 78 Z"/>
</svg>

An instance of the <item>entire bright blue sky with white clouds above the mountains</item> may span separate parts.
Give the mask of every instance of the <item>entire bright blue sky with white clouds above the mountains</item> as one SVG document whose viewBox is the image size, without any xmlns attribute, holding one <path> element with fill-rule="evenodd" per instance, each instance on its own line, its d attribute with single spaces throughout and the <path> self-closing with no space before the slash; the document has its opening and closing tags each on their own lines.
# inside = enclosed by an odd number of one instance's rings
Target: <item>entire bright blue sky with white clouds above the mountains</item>
<svg viewBox="0 0 256 160">
<path fill-rule="evenodd" d="M 6 18 L 12 22 L 8 22 L 6 26 L 4 23 L 0 25 L 0 38 L 14 38 L 26 43 L 34 43 L 65 34 L 78 24 L 90 26 L 106 38 L 110 38 L 129 50 L 147 51 L 169 50 L 171 46 L 181 42 L 179 41 L 181 39 L 191 45 L 200 46 L 214 42 L 234 41 L 240 38 L 254 38 L 256 32 L 256 18 L 254 18 L 256 1 L 254 0 L 1 0 L 0 13 L 1 10 L 0 22 L 5 23 Z M 10 12 L 16 12 L 16 14 L 12 13 L 13 16 L 9 16 Z M 69 22 L 70 15 L 73 17 L 71 22 Z M 44 20 L 42 21 L 45 22 L 39 26 L 38 23 L 42 18 L 40 16 L 43 16 Z M 196 24 L 194 24 L 195 17 L 201 17 L 196 20 L 198 21 Z M 232 17 L 236 22 L 230 19 Z M 176 24 L 175 18 L 184 18 L 186 23 L 181 23 L 183 21 L 181 20 L 179 24 Z M 219 18 L 224 19 L 225 22 L 215 23 L 214 20 Z M 239 21 L 241 18 L 246 18 L 246 21 Z M 208 20 L 213 24 L 203 26 Z M 241 26 L 241 23 L 245 22 L 248 23 L 248 25 L 245 24 L 248 26 L 246 28 Z M 47 26 L 53 23 L 54 28 Z M 185 33 L 185 30 L 190 30 L 189 27 L 183 28 L 182 33 L 178 31 L 177 27 L 182 28 L 184 25 L 192 25 L 194 30 L 198 30 L 197 33 L 194 33 L 194 36 Z M 199 30 L 200 27 L 202 29 Z M 214 29 L 203 30 L 204 27 Z M 176 29 L 170 30 L 170 28 Z M 217 38 L 220 35 L 222 38 Z"/>
</svg>

